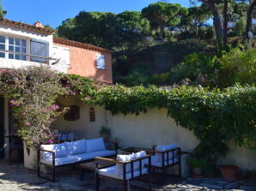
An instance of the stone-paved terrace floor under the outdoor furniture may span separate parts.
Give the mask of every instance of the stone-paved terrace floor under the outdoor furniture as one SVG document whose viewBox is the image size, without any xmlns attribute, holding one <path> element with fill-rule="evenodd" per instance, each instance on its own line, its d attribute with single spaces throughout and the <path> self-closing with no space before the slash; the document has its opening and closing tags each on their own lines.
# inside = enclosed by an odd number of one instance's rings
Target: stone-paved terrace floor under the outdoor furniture
<svg viewBox="0 0 256 191">
<path fill-rule="evenodd" d="M 88 172 L 84 176 L 84 181 L 79 179 L 78 170 L 61 170 L 57 172 L 57 182 L 50 182 L 43 178 L 38 178 L 34 170 L 28 170 L 21 164 L 7 165 L 0 163 L 0 191 L 20 191 L 20 190 L 67 190 L 67 191 L 93 191 L 94 190 L 94 172 Z M 158 178 L 160 176 L 157 176 Z M 174 178 L 168 178 L 166 186 L 160 186 L 161 184 L 155 182 L 161 182 L 154 178 L 153 190 L 179 190 L 179 191 L 198 191 L 198 190 L 233 190 L 233 191 L 256 191 L 256 182 L 253 181 L 236 181 L 226 182 L 222 178 L 186 178 L 183 180 L 175 180 Z M 133 182 L 141 187 L 137 189 L 131 187 L 131 190 L 145 190 L 147 184 L 144 182 Z M 122 190 L 122 186 L 119 182 L 103 180 L 101 182 L 101 190 L 115 191 Z"/>
</svg>

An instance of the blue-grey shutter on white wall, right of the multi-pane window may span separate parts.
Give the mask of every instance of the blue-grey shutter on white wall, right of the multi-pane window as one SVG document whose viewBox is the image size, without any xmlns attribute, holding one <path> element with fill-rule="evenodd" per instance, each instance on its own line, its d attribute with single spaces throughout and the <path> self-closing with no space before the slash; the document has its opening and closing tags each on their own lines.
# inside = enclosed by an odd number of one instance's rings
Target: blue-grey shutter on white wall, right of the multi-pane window
<svg viewBox="0 0 256 191">
<path fill-rule="evenodd" d="M 47 63 L 49 57 L 49 42 L 39 39 L 31 39 L 30 42 L 31 61 Z M 33 57 L 38 56 L 38 57 Z"/>
</svg>

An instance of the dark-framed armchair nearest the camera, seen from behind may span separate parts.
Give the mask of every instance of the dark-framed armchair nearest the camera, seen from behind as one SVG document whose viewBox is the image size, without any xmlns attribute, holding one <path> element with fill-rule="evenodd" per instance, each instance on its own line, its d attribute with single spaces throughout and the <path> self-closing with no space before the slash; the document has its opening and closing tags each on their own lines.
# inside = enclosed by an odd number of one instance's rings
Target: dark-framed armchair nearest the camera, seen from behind
<svg viewBox="0 0 256 191">
<path fill-rule="evenodd" d="M 108 162 L 113 162 L 113 166 L 104 169 L 99 169 L 98 164 L 96 164 L 95 170 L 95 181 L 96 190 L 100 188 L 100 179 L 114 179 L 123 183 L 124 190 L 127 190 L 127 185 L 129 181 L 134 180 L 139 176 L 148 174 L 149 176 L 149 190 L 151 190 L 151 156 L 146 155 L 143 158 L 132 159 L 129 161 L 119 161 L 111 158 L 95 158 L 98 160 L 104 160 Z M 145 168 L 144 162 L 147 160 L 148 168 Z M 121 168 L 121 173 L 117 173 L 117 168 Z"/>
</svg>

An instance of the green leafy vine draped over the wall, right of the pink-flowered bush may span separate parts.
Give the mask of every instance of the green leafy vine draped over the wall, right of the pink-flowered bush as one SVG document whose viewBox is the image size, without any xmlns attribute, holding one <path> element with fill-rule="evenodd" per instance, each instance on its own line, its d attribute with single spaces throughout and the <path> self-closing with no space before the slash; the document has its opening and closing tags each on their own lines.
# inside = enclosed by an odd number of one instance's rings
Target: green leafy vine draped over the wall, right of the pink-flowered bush
<svg viewBox="0 0 256 191">
<path fill-rule="evenodd" d="M 139 115 L 150 108 L 167 108 L 168 116 L 181 127 L 193 131 L 200 143 L 195 151 L 202 157 L 224 156 L 227 143 L 256 148 L 256 88 L 229 87 L 220 91 L 202 87 L 175 87 L 172 91 L 157 87 L 111 86 L 96 92 L 81 93 L 87 104 L 99 104 L 113 115 Z"/>
</svg>

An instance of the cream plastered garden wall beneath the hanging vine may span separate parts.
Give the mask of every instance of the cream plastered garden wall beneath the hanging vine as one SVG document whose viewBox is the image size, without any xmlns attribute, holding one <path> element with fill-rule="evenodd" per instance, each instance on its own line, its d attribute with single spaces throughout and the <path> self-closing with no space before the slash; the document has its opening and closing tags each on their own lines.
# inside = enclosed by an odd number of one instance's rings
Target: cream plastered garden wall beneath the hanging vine
<svg viewBox="0 0 256 191">
<path fill-rule="evenodd" d="M 81 138 L 93 139 L 99 137 L 98 130 L 106 125 L 112 130 L 113 138 L 121 140 L 122 147 L 143 146 L 178 143 L 183 151 L 191 152 L 198 145 L 198 140 L 191 131 L 177 126 L 172 118 L 167 117 L 167 110 L 152 109 L 139 116 L 112 116 L 109 111 L 95 106 L 95 122 L 89 122 L 89 106 L 82 104 L 76 97 L 60 98 L 65 105 L 80 105 L 80 119 L 74 122 L 64 120 L 58 116 L 54 128 L 62 130 L 80 130 Z M 256 170 L 256 152 L 229 144 L 226 158 L 219 158 L 219 163 L 236 164 L 242 170 Z"/>
</svg>

